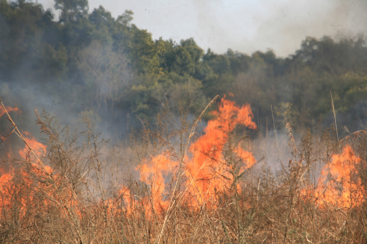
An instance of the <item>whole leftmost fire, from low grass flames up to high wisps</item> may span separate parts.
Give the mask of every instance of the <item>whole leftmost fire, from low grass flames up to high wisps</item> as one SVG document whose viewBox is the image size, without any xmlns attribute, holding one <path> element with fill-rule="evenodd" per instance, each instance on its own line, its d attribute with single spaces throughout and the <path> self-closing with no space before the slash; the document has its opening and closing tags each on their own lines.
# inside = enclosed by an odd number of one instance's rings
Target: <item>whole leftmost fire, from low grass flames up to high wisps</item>
<svg viewBox="0 0 367 244">
<path fill-rule="evenodd" d="M 6 112 L 21 113 L 18 107 L 0 106 L 0 117 Z M 13 126 L 15 126 L 14 123 Z M 19 133 L 18 130 L 17 132 Z M 26 141 L 24 147 L 18 151 L 20 157 L 26 161 L 35 161 L 31 149 L 37 157 L 45 156 L 46 145 L 40 143 L 27 131 L 22 131 L 20 134 Z M 4 139 L 1 136 L 0 138 Z M 9 147 L 9 153 L 5 154 L 8 158 L 14 155 L 11 145 Z M 0 175 L 0 218 L 18 216 L 19 221 L 27 221 L 29 218 L 27 215 L 33 209 L 70 209 L 76 206 L 75 192 L 72 191 L 70 182 L 65 176 L 54 172 L 51 167 L 41 162 L 34 162 L 26 166 L 10 165 L 6 173 L 4 169 L 0 168 Z M 61 212 L 66 214 L 66 211 Z M 80 211 L 77 212 L 79 213 Z"/>
</svg>

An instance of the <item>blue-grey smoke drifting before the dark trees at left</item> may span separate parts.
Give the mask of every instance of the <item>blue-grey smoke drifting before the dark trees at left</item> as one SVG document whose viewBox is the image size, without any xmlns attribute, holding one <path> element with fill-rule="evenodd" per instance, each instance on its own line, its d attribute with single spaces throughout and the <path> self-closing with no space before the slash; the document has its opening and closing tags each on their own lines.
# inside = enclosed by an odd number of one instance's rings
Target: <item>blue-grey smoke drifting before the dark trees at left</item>
<svg viewBox="0 0 367 244">
<path fill-rule="evenodd" d="M 38 58 L 44 60 L 45 57 Z M 46 82 L 42 82 L 44 74 L 35 73 L 32 67 L 32 63 L 39 60 L 25 56 L 17 68 L 0 79 L 4 105 L 18 105 L 22 111 L 21 116 L 15 118 L 20 129 L 40 139 L 35 110 L 42 112 L 44 108 L 58 120 L 60 128 L 70 126 L 71 131 L 81 131 L 83 118 L 88 117 L 112 143 L 126 137 L 134 123 L 129 121 L 126 111 L 114 104 L 125 95 L 124 87 L 132 79 L 124 55 L 112 51 L 111 45 L 102 47 L 100 42 L 93 41 L 78 52 L 78 71 L 72 73 L 74 77 L 54 75 Z"/>
</svg>

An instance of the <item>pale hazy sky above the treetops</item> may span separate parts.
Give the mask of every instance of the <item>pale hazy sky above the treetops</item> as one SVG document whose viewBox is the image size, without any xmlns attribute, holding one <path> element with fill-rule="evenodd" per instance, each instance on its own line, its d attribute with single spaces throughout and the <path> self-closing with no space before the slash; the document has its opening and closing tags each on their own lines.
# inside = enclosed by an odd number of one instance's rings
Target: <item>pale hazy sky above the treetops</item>
<svg viewBox="0 0 367 244">
<path fill-rule="evenodd" d="M 45 9 L 54 5 L 39 3 Z M 193 37 L 204 50 L 218 53 L 271 48 L 287 56 L 306 36 L 367 33 L 367 0 L 89 0 L 90 11 L 99 5 L 113 17 L 132 10 L 133 23 L 154 39 Z"/>
</svg>

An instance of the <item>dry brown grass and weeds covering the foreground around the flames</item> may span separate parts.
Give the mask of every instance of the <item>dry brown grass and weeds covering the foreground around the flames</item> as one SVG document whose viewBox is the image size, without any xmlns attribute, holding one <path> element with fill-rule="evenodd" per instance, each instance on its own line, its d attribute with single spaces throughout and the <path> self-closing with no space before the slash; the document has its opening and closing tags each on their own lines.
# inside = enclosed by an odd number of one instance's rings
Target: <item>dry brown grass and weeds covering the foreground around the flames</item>
<svg viewBox="0 0 367 244">
<path fill-rule="evenodd" d="M 367 243 L 364 132 L 340 142 L 348 140 L 360 158 L 358 163 L 350 162 L 357 171 L 346 178 L 357 183 L 364 195 L 357 204 L 340 206 L 317 194 L 317 168 L 339 154 L 335 129 L 307 131 L 296 147 L 290 126 L 289 167 L 275 174 L 264 162 L 252 177 L 233 170 L 236 182 L 231 187 L 217 189 L 207 201 L 193 204 L 200 196 L 188 192 L 193 183 L 182 175 L 198 120 L 188 123 L 183 110 L 178 121 L 168 110 L 162 111 L 156 130 L 132 134 L 125 151 L 107 151 L 106 141 L 99 139 L 88 120 L 82 133 L 72 134 L 58 128 L 47 113 L 37 115 L 48 138 L 47 155 L 16 161 L 22 167 L 13 169 L 8 179 L 1 176 L 1 243 Z M 229 145 L 237 143 L 238 134 L 229 135 Z M 232 148 L 226 146 L 226 158 Z M 122 168 L 141 165 L 144 158 L 162 151 L 180 163 L 167 177 L 164 199 L 168 204 L 159 207 L 149 184 L 133 174 L 126 176 Z M 235 161 L 226 162 L 237 167 Z M 251 184 L 254 180 L 256 184 Z M 238 182 L 241 189 L 236 187 Z M 355 200 L 353 192 L 348 199 Z"/>
</svg>

